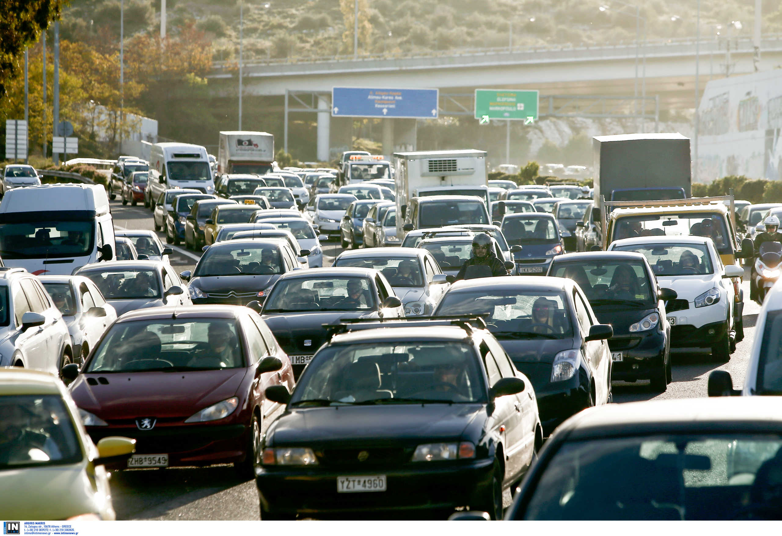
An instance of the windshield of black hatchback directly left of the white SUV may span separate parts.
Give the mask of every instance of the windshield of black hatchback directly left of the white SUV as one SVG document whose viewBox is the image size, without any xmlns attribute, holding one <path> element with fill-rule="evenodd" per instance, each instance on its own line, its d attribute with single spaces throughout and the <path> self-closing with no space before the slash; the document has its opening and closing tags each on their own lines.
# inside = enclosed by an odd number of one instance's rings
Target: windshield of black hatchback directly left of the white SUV
<svg viewBox="0 0 782 536">
<path fill-rule="evenodd" d="M 629 300 L 651 308 L 657 302 L 652 294 L 654 285 L 650 284 L 644 264 L 638 261 L 556 263 L 551 275 L 576 281 L 592 306 Z"/>
</svg>

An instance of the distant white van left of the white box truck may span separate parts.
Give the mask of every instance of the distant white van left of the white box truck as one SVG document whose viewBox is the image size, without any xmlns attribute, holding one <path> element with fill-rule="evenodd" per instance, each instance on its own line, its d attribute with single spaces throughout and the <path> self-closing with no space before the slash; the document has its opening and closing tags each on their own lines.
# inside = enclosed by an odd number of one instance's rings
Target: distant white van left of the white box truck
<svg viewBox="0 0 782 536">
<path fill-rule="evenodd" d="M 206 148 L 188 143 L 156 143 L 149 153 L 148 198 L 156 199 L 169 188 L 214 193 L 214 176 Z"/>
</svg>

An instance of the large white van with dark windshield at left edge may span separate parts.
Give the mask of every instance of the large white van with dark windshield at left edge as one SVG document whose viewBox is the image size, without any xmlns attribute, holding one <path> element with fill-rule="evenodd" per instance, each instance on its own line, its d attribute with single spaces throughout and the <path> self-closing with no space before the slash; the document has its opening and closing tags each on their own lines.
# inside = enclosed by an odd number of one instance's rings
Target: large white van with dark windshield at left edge
<svg viewBox="0 0 782 536">
<path fill-rule="evenodd" d="M 115 260 L 109 198 L 99 184 L 14 188 L 0 203 L 0 258 L 41 275 Z"/>
</svg>

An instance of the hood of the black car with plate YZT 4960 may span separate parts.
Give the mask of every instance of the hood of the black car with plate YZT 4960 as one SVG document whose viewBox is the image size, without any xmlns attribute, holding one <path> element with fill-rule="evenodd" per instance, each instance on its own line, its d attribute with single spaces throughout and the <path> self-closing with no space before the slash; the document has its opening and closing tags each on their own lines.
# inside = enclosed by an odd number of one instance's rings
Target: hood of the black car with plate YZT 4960
<svg viewBox="0 0 782 536">
<path fill-rule="evenodd" d="M 411 446 L 423 439 L 458 439 L 482 404 L 400 404 L 292 408 L 271 425 L 270 445 L 350 445 L 361 441 Z M 361 423 L 357 426 L 358 423 Z"/>
</svg>

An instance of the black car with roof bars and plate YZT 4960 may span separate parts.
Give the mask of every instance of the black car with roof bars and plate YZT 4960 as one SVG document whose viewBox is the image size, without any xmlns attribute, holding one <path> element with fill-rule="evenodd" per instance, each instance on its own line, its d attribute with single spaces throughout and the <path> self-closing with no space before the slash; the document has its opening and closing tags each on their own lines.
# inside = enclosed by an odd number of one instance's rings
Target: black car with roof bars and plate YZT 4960
<svg viewBox="0 0 782 536">
<path fill-rule="evenodd" d="M 266 391 L 287 407 L 261 445 L 261 519 L 444 519 L 459 506 L 500 518 L 503 490 L 543 437 L 529 379 L 485 324 L 378 320 L 335 331 L 292 395 Z"/>
</svg>

